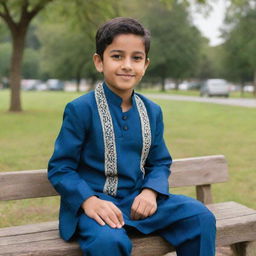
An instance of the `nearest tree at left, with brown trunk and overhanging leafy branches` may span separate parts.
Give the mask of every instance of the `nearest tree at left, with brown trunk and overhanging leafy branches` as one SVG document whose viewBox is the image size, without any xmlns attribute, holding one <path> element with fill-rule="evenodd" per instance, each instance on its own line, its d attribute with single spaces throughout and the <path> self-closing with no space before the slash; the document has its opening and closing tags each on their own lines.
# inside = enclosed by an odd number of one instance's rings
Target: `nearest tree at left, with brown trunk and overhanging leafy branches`
<svg viewBox="0 0 256 256">
<path fill-rule="evenodd" d="M 99 16 L 106 17 L 103 10 L 106 13 L 109 13 L 109 11 L 115 12 L 113 0 L 69 0 L 65 2 L 57 0 L 0 0 L 0 18 L 8 26 L 12 37 L 10 111 L 22 110 L 20 100 L 21 67 L 29 25 L 32 19 L 51 2 L 58 2 L 62 13 L 69 13 L 69 7 L 75 5 L 76 13 L 74 16 L 69 16 L 70 22 L 76 23 L 78 19 L 81 20 L 81 23 L 83 23 L 83 20 L 91 21 L 91 24 L 87 23 L 87 26 L 95 25 L 93 22 L 97 21 Z M 63 7 L 61 8 L 61 6 Z"/>
</svg>

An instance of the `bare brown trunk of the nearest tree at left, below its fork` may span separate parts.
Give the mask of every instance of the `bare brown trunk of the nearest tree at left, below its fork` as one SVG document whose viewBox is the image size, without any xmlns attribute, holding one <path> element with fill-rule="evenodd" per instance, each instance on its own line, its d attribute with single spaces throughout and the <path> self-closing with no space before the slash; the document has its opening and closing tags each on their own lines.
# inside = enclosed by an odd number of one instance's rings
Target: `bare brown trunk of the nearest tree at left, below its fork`
<svg viewBox="0 0 256 256">
<path fill-rule="evenodd" d="M 25 46 L 26 32 L 13 34 L 12 41 L 12 57 L 10 68 L 10 87 L 11 87 L 11 103 L 10 111 L 22 111 L 21 108 L 21 68 L 22 57 Z"/>
</svg>

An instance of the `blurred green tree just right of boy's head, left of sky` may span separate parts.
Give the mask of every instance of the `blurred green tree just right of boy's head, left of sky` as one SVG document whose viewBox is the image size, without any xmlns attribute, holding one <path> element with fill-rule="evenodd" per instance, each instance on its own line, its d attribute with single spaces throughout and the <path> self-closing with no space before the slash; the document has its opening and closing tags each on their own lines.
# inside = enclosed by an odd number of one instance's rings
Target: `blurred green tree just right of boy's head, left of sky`
<svg viewBox="0 0 256 256">
<path fill-rule="evenodd" d="M 193 76 L 200 56 L 200 33 L 191 25 L 186 7 L 178 2 L 171 9 L 152 2 L 146 16 L 152 33 L 148 75 L 160 78 L 162 90 L 166 78 L 175 80 L 178 89 L 181 80 Z"/>
</svg>

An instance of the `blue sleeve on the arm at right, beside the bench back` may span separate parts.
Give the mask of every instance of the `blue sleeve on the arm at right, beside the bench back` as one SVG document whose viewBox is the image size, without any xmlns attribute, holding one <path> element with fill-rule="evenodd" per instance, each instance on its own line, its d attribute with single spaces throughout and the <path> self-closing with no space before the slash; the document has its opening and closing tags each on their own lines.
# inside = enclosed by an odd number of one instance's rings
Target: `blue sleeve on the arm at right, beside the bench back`
<svg viewBox="0 0 256 256">
<path fill-rule="evenodd" d="M 145 178 L 142 188 L 150 188 L 160 194 L 169 195 L 168 177 L 172 158 L 165 145 L 163 132 L 163 115 L 159 108 L 156 132 L 153 135 L 153 144 L 145 164 Z"/>
</svg>

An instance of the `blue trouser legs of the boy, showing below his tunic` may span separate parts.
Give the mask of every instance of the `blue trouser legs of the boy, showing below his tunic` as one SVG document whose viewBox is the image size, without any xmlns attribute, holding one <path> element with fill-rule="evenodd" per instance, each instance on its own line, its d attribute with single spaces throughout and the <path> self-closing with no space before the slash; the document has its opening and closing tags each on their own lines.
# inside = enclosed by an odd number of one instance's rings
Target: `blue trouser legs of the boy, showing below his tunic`
<svg viewBox="0 0 256 256">
<path fill-rule="evenodd" d="M 158 233 L 175 246 L 177 256 L 215 255 L 216 220 L 210 211 L 180 219 Z M 125 227 L 100 226 L 85 214 L 79 219 L 78 242 L 84 256 L 129 256 L 132 251 Z"/>
</svg>

